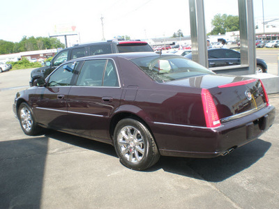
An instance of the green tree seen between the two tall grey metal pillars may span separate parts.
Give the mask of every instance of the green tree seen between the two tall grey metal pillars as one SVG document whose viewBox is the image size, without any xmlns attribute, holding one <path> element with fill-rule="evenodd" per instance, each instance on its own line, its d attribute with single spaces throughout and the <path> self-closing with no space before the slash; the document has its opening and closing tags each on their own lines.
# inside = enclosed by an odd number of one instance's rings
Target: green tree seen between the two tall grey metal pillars
<svg viewBox="0 0 279 209">
<path fill-rule="evenodd" d="M 229 31 L 239 31 L 239 16 L 217 14 L 211 21 L 214 28 L 209 35 L 218 35 L 218 33 L 225 34 Z"/>
</svg>

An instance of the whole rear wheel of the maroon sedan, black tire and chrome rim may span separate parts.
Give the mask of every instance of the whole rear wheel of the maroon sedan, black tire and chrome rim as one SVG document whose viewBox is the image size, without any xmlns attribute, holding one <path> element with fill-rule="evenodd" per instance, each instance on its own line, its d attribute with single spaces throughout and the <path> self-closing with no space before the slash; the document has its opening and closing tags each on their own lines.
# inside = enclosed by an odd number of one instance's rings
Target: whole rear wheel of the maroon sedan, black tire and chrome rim
<svg viewBox="0 0 279 209">
<path fill-rule="evenodd" d="M 160 157 L 151 132 L 133 118 L 124 118 L 117 123 L 114 148 L 124 166 L 138 171 L 153 166 Z"/>
</svg>

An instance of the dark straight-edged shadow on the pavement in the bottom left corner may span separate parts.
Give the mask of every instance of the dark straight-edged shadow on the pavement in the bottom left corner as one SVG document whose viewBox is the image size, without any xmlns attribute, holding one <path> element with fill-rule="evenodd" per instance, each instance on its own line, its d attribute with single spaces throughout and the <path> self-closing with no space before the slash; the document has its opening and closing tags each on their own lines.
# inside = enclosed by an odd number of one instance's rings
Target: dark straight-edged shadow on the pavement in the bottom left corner
<svg viewBox="0 0 279 209">
<path fill-rule="evenodd" d="M 40 208 L 47 137 L 0 142 L 0 208 Z"/>
</svg>

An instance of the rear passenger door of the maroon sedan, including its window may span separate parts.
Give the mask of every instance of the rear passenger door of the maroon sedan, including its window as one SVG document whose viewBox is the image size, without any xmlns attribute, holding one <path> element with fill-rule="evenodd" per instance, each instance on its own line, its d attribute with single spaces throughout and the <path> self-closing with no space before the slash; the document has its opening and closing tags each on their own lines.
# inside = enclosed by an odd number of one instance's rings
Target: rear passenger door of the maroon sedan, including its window
<svg viewBox="0 0 279 209">
<path fill-rule="evenodd" d="M 122 89 L 112 59 L 84 61 L 76 85 L 68 95 L 68 116 L 73 132 L 109 140 L 109 120 L 119 107 Z"/>
</svg>

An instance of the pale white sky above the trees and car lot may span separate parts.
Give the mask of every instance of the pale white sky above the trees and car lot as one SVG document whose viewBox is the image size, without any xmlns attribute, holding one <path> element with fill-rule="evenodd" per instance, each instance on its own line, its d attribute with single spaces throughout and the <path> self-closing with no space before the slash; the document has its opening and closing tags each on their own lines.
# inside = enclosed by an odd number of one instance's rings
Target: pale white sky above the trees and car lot
<svg viewBox="0 0 279 209">
<path fill-rule="evenodd" d="M 254 0 L 254 16 L 279 18 L 278 0 Z M 238 15 L 237 0 L 204 0 L 206 31 L 217 13 Z M 179 29 L 190 35 L 188 0 L 9 0 L 1 2 L 0 39 L 20 42 L 23 36 L 49 36 L 54 27 L 76 26 L 81 42 L 130 36 L 133 39 L 169 37 Z M 70 41 L 75 42 L 76 37 Z M 63 40 L 63 39 L 62 39 Z"/>
</svg>

